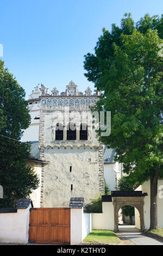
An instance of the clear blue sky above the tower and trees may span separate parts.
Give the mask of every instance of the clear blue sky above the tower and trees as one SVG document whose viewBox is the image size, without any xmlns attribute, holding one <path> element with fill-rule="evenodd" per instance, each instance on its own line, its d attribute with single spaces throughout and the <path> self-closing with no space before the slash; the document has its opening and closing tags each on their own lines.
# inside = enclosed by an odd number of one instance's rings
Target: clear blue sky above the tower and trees
<svg viewBox="0 0 163 256">
<path fill-rule="evenodd" d="M 80 91 L 93 84 L 84 77 L 84 54 L 93 52 L 102 28 L 161 15 L 162 0 L 3 0 L 0 4 L 5 66 L 28 94 L 43 83 L 64 92 L 73 80 Z"/>
</svg>

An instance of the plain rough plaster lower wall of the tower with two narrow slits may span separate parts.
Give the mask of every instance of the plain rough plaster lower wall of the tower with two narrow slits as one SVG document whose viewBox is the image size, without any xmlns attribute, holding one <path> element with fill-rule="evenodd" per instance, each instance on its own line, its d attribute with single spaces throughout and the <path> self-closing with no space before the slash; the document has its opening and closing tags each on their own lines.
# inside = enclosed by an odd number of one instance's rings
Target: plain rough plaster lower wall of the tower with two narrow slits
<svg viewBox="0 0 163 256">
<path fill-rule="evenodd" d="M 43 168 L 43 207 L 68 207 L 71 197 L 84 197 L 86 204 L 97 197 L 99 166 L 96 149 L 49 147 L 44 155 L 49 164 Z"/>
</svg>

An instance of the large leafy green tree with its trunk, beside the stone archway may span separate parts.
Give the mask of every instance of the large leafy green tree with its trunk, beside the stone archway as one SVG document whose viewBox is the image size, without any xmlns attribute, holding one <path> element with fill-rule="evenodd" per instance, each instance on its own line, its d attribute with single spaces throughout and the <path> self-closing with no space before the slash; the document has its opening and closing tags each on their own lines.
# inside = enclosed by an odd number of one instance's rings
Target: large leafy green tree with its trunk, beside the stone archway
<svg viewBox="0 0 163 256">
<path fill-rule="evenodd" d="M 146 17 L 134 25 L 125 15 L 121 27 L 103 28 L 95 54 L 87 53 L 87 79 L 102 91 L 93 110 L 111 111 L 111 135 L 101 142 L 116 148 L 115 160 L 123 163 L 130 180 L 151 180 L 151 228 L 158 228 L 157 186 L 162 175 L 162 17 Z M 160 30 L 161 31 L 161 30 Z"/>
</svg>

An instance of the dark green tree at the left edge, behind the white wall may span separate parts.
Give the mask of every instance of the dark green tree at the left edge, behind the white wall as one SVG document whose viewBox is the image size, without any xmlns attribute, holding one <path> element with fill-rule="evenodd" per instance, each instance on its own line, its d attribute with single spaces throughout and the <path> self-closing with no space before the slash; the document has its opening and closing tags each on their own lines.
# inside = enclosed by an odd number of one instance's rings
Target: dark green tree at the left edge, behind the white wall
<svg viewBox="0 0 163 256">
<path fill-rule="evenodd" d="M 39 184 L 34 171 L 26 166 L 30 144 L 21 143 L 22 129 L 30 124 L 24 89 L 4 68 L 0 60 L 0 207 L 13 207 L 18 199 L 28 197 Z"/>
</svg>

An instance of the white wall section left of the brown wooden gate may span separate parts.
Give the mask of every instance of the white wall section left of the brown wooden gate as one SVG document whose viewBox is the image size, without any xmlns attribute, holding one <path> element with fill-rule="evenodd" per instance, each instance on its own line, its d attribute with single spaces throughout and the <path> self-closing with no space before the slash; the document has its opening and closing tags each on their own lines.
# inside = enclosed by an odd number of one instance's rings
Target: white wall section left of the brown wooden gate
<svg viewBox="0 0 163 256">
<path fill-rule="evenodd" d="M 17 209 L 17 212 L 0 214 L 0 242 L 27 243 L 29 230 L 29 209 Z"/>
</svg>

